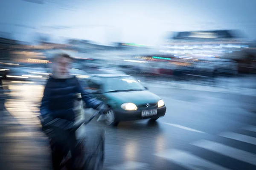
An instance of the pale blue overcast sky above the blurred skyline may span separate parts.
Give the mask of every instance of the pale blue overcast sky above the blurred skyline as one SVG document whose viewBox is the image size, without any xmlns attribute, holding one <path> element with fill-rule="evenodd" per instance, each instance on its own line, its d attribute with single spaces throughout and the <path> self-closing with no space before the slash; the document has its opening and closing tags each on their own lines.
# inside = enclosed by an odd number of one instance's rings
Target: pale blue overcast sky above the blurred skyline
<svg viewBox="0 0 256 170">
<path fill-rule="evenodd" d="M 158 45 L 169 31 L 209 29 L 256 39 L 256 0 L 0 0 L 0 9 L 2 34 L 23 41 L 43 33 L 56 42 Z"/>
</svg>

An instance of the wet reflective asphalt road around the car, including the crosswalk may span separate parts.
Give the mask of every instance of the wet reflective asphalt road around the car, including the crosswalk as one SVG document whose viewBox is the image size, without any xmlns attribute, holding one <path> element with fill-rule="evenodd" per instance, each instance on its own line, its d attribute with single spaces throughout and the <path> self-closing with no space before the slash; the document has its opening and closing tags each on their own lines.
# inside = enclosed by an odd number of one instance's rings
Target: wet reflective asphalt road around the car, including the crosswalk
<svg viewBox="0 0 256 170">
<path fill-rule="evenodd" d="M 22 159 L 26 164 L 17 163 L 27 169 L 35 169 L 36 162 L 47 164 L 47 151 L 42 149 L 47 148 L 46 139 L 38 132 L 36 117 L 43 88 L 11 85 L 10 89 L 16 90 L 12 95 L 20 97 L 6 103 L 7 110 L 22 125 L 20 131 L 32 136 L 31 150 L 41 147 L 36 153 L 26 153 L 24 148 L 19 153 L 11 150 L 14 155 L 28 156 L 30 160 Z M 86 130 L 106 130 L 106 170 L 256 169 L 256 97 L 172 88 L 149 90 L 166 102 L 166 116 L 156 123 L 121 122 L 114 128 L 93 120 L 86 126 Z M 92 112 L 88 110 L 87 116 Z M 15 158 L 9 159 L 15 162 Z"/>
</svg>

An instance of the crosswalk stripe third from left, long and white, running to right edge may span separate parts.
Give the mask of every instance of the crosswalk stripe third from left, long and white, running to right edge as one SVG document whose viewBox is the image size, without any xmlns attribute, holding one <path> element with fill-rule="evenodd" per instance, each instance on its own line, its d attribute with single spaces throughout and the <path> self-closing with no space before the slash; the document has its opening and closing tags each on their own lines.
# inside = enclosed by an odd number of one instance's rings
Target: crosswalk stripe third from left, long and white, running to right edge
<svg viewBox="0 0 256 170">
<path fill-rule="evenodd" d="M 190 144 L 213 151 L 215 153 L 219 153 L 224 156 L 228 156 L 233 159 L 256 165 L 256 154 L 249 153 L 244 150 L 239 150 L 234 147 L 230 147 L 217 142 L 207 141 L 204 139 L 197 142 L 192 142 Z"/>
</svg>

